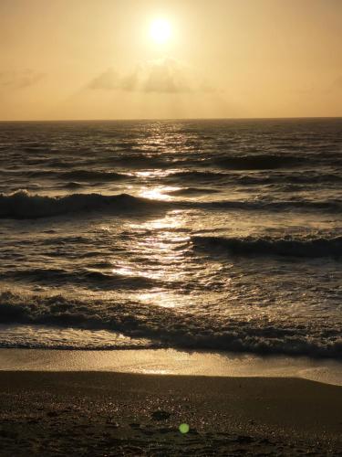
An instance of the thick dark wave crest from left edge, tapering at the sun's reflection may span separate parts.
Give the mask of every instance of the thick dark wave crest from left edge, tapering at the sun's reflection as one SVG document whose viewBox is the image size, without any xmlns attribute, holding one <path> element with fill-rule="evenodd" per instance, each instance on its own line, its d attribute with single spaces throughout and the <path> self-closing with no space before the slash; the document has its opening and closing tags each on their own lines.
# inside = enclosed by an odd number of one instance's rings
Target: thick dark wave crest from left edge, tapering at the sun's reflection
<svg viewBox="0 0 342 457">
<path fill-rule="evenodd" d="M 66 197 L 31 195 L 26 190 L 14 194 L 0 194 L 0 218 L 47 218 L 82 211 L 108 209 L 130 212 L 158 209 L 162 202 L 128 194 L 103 196 L 101 194 L 72 194 Z"/>
</svg>

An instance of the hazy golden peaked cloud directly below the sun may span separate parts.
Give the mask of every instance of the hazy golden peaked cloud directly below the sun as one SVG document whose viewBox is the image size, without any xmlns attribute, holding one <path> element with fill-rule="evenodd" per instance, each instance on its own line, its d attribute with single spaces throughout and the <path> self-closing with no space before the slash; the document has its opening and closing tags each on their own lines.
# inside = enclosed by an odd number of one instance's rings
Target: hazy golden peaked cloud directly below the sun
<svg viewBox="0 0 342 457">
<path fill-rule="evenodd" d="M 120 76 L 107 69 L 88 84 L 90 90 L 125 90 L 159 93 L 213 91 L 195 72 L 174 58 L 151 60 Z"/>
</svg>

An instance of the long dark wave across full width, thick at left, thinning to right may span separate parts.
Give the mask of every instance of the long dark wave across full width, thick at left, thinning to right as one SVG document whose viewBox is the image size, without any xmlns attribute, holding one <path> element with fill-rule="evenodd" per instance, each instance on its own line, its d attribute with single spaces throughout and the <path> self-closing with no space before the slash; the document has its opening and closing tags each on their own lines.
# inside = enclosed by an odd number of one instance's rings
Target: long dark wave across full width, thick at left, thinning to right
<svg viewBox="0 0 342 457">
<path fill-rule="evenodd" d="M 339 200 L 213 200 L 209 202 L 166 202 L 150 198 L 132 197 L 129 194 L 105 196 L 101 194 L 71 194 L 64 197 L 46 197 L 19 190 L 13 194 L 0 194 L 0 218 L 47 218 L 85 211 L 109 211 L 115 214 L 149 212 L 167 208 L 198 208 L 206 210 L 242 209 L 283 211 L 292 209 L 340 212 Z"/>
</svg>

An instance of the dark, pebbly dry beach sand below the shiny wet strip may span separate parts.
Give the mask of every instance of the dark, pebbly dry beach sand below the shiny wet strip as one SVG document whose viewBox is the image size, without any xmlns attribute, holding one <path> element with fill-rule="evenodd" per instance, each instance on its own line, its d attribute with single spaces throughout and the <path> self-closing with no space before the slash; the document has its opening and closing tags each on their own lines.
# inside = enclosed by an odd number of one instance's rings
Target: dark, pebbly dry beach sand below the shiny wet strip
<svg viewBox="0 0 342 457">
<path fill-rule="evenodd" d="M 2 456 L 304 453 L 342 455 L 342 388 L 295 378 L 0 373 Z"/>
</svg>

